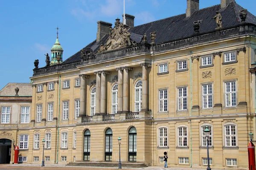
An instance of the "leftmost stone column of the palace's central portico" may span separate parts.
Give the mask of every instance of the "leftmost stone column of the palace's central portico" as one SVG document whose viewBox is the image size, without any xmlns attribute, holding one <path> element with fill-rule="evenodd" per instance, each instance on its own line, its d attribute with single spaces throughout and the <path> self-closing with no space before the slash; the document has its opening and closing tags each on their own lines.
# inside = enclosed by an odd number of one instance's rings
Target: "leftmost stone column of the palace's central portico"
<svg viewBox="0 0 256 170">
<path fill-rule="evenodd" d="M 81 78 L 81 88 L 80 88 L 80 113 L 79 116 L 86 115 L 86 104 L 87 104 L 87 85 L 89 75 L 79 75 Z"/>
</svg>

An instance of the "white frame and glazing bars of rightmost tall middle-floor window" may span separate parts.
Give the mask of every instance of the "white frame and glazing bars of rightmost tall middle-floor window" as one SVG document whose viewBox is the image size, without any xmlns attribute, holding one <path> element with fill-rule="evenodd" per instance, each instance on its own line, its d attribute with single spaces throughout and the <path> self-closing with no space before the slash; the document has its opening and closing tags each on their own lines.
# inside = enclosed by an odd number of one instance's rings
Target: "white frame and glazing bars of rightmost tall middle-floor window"
<svg viewBox="0 0 256 170">
<path fill-rule="evenodd" d="M 236 86 L 236 91 L 231 91 L 232 90 L 232 83 L 235 83 L 235 86 Z M 230 88 L 230 92 L 227 92 L 227 85 L 226 84 L 230 84 L 229 88 Z M 225 107 L 227 108 L 230 108 L 230 107 L 237 107 L 237 99 L 238 99 L 238 92 L 237 92 L 237 89 L 238 89 L 238 83 L 237 83 L 237 80 L 227 80 L 227 81 L 224 81 L 224 99 L 225 99 Z M 230 98 L 230 106 L 227 105 L 227 94 L 229 94 L 229 98 Z M 236 105 L 232 105 L 233 102 L 232 102 L 232 94 L 235 94 L 235 102 L 236 102 Z"/>
</svg>

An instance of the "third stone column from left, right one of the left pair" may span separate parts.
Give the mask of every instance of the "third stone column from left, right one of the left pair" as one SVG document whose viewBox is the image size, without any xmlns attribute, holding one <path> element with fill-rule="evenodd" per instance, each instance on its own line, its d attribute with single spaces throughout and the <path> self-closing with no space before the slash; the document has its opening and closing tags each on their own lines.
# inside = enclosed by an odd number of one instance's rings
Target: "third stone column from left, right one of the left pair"
<svg viewBox="0 0 256 170">
<path fill-rule="evenodd" d="M 106 71 L 102 71 L 101 73 L 100 113 L 103 113 L 103 114 L 106 113 L 106 74 L 108 73 L 109 72 L 106 72 Z M 97 93 L 97 89 L 96 89 L 96 93 Z"/>
</svg>

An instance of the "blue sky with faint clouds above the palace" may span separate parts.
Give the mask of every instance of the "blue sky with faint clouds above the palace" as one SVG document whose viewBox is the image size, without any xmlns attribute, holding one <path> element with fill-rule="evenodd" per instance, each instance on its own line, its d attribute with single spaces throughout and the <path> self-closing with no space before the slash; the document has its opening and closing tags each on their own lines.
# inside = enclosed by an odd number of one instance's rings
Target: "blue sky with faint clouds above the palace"
<svg viewBox="0 0 256 170">
<path fill-rule="evenodd" d="M 200 0 L 200 9 L 221 0 Z M 256 0 L 236 0 L 256 15 Z M 125 0 L 125 13 L 135 16 L 134 25 L 186 12 L 186 0 Z M 0 89 L 9 82 L 29 82 L 34 61 L 46 65 L 45 55 L 56 40 L 69 58 L 96 39 L 97 21 L 114 23 L 122 18 L 123 0 L 1 0 Z"/>
</svg>

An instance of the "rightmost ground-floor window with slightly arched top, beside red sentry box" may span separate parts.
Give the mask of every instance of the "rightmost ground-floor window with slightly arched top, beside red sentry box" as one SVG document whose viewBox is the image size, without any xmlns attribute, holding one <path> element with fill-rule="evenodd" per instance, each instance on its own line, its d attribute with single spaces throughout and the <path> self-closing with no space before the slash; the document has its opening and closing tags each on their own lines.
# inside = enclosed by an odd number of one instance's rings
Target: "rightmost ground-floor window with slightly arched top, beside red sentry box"
<svg viewBox="0 0 256 170">
<path fill-rule="evenodd" d="M 225 126 L 225 146 L 236 147 L 236 126 L 235 125 Z"/>
</svg>

